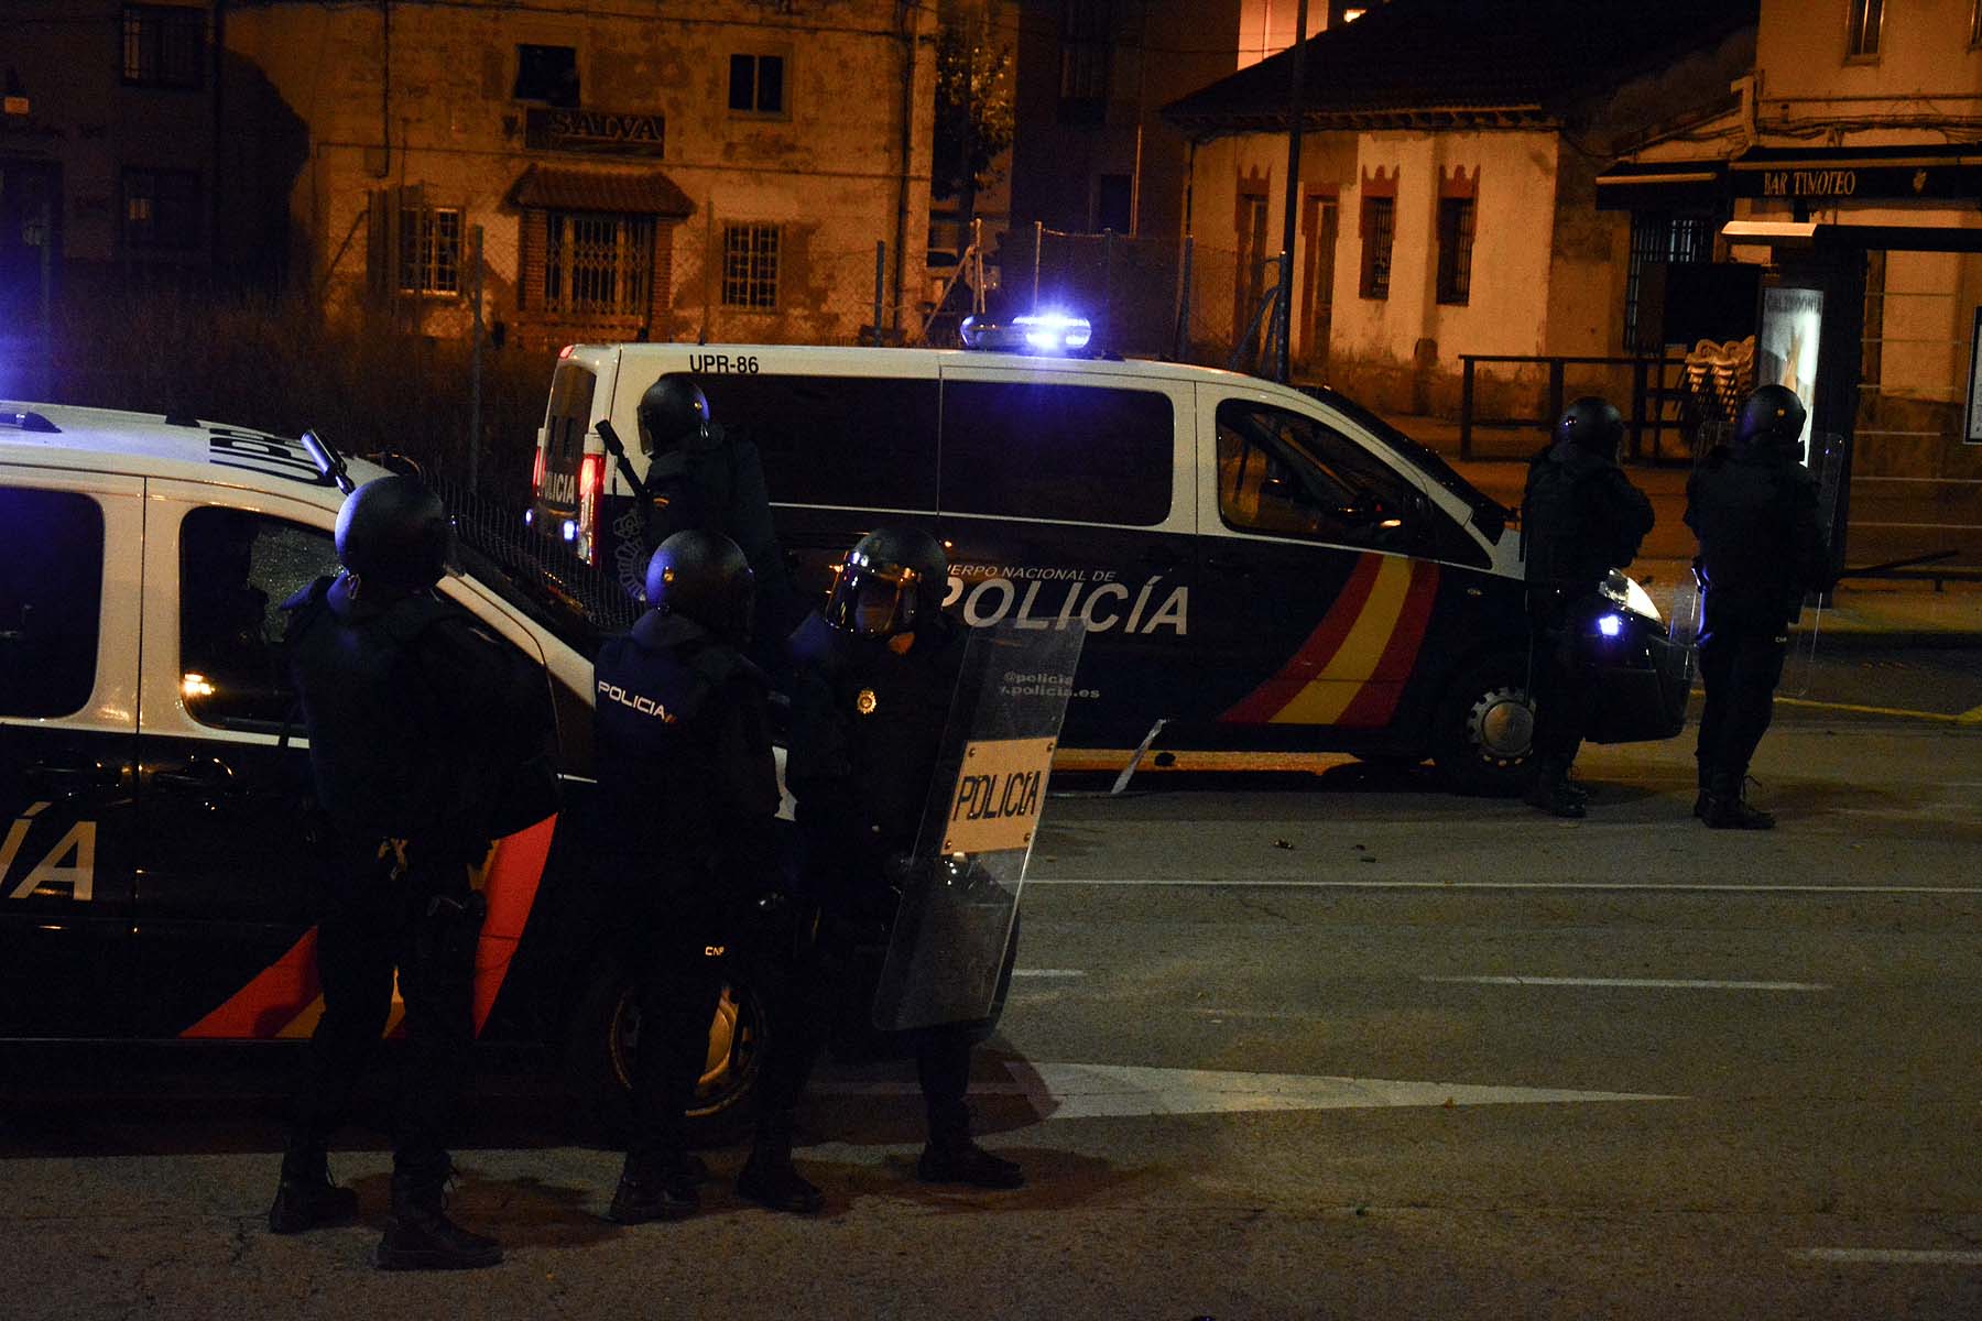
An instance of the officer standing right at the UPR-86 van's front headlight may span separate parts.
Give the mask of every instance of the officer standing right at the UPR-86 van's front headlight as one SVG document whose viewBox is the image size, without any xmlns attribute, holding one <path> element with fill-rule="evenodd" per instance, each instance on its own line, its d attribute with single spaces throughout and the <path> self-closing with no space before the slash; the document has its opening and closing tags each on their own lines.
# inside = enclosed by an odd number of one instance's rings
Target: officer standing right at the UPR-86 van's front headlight
<svg viewBox="0 0 1982 1321">
<path fill-rule="evenodd" d="M 1534 784 L 1526 802 L 1550 816 L 1584 816 L 1588 794 L 1570 782 L 1596 701 L 1584 632 L 1597 586 L 1623 568 L 1651 531 L 1645 493 L 1617 467 L 1623 418 L 1584 396 L 1556 422 L 1528 463 L 1520 541 L 1528 576 L 1528 656 L 1534 695 Z"/>
</svg>

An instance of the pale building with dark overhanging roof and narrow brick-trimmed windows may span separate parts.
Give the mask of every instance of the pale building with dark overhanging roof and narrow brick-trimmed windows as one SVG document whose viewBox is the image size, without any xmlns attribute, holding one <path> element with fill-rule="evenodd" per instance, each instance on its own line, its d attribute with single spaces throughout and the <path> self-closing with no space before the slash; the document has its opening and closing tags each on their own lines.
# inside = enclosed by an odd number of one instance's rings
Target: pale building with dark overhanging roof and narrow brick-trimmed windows
<svg viewBox="0 0 1982 1321">
<path fill-rule="evenodd" d="M 1627 226 L 1596 174 L 1619 143 L 1728 99 L 1754 0 L 1391 0 L 1181 97 L 1191 143 L 1195 353 L 1253 335 L 1280 283 L 1288 133 L 1302 129 L 1288 254 L 1296 372 L 1372 404 L 1453 412 L 1459 355 L 1625 347 Z M 1534 408 L 1500 368 L 1494 408 Z M 1522 402 L 1508 402 L 1508 400 Z"/>
</svg>

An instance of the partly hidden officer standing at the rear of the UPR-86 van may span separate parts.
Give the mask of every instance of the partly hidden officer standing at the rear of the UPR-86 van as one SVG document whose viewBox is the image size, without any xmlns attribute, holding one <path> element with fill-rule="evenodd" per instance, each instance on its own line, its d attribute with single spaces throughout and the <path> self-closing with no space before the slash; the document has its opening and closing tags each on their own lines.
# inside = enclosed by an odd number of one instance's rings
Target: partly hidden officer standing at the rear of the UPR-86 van
<svg viewBox="0 0 1982 1321">
<path fill-rule="evenodd" d="M 640 396 L 640 454 L 646 467 L 648 547 L 684 529 L 737 543 L 757 580 L 753 660 L 783 669 L 793 624 L 791 578 L 771 527 L 771 497 L 757 446 L 710 416 L 710 400 L 688 372 L 666 372 Z"/>
</svg>

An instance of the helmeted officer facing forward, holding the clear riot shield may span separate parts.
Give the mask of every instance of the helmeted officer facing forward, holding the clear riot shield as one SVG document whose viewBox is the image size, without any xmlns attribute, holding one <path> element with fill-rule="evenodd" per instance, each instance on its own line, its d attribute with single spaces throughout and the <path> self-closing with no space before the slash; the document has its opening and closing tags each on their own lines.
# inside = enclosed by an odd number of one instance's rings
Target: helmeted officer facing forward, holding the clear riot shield
<svg viewBox="0 0 1982 1321">
<path fill-rule="evenodd" d="M 844 996 L 848 945 L 884 931 L 896 909 L 890 869 L 914 848 L 963 665 L 965 628 L 943 614 L 949 564 L 928 533 L 878 529 L 846 553 L 825 612 L 793 636 L 797 679 L 785 782 L 821 907 L 815 974 Z M 823 1006 L 797 1022 L 795 1050 L 767 1064 L 767 1103 L 795 1099 L 825 1042 Z M 965 1103 L 967 1024 L 916 1032 L 916 1066 L 930 1141 L 924 1182 L 1017 1188 L 1025 1174 L 971 1141 Z"/>
</svg>

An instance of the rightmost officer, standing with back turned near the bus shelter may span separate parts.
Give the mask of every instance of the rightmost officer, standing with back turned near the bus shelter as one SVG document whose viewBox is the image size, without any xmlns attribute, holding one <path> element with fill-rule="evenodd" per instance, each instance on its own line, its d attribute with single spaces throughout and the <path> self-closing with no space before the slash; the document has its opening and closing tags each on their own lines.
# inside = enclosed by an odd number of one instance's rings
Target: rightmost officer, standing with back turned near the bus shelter
<svg viewBox="0 0 1982 1321">
<path fill-rule="evenodd" d="M 1748 761 L 1768 731 L 1790 626 L 1804 592 L 1831 586 L 1817 485 L 1800 461 L 1804 402 L 1762 386 L 1742 404 L 1734 444 L 1716 446 L 1687 479 L 1687 527 L 1705 588 L 1701 622 L 1701 792 L 1693 814 L 1714 830 L 1768 830 L 1748 806 Z"/>
</svg>

